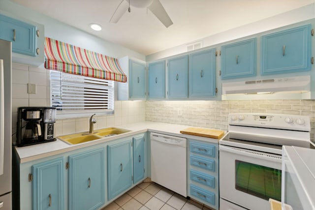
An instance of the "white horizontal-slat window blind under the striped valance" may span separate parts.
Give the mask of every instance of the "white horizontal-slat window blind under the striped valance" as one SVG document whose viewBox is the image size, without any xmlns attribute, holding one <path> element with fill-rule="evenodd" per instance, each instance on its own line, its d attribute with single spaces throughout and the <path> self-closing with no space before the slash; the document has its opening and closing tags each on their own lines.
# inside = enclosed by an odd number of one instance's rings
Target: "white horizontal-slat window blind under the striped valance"
<svg viewBox="0 0 315 210">
<path fill-rule="evenodd" d="M 114 81 L 50 71 L 50 88 L 58 114 L 114 113 Z"/>
</svg>

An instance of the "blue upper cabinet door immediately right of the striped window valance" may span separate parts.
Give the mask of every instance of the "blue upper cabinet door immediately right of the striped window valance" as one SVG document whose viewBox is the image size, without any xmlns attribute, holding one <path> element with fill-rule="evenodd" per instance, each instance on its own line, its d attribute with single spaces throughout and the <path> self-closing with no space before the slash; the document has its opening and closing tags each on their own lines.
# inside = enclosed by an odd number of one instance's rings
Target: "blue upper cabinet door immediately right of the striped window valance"
<svg viewBox="0 0 315 210">
<path fill-rule="evenodd" d="M 134 60 L 129 60 L 129 98 L 146 98 L 146 66 Z"/>
</svg>

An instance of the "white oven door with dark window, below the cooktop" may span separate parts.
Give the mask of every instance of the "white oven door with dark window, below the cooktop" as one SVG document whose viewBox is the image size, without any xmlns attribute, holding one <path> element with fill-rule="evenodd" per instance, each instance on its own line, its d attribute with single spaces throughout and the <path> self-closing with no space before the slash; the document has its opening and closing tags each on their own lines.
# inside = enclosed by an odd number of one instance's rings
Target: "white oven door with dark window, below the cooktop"
<svg viewBox="0 0 315 210">
<path fill-rule="evenodd" d="M 281 155 L 220 145 L 220 197 L 250 210 L 281 201 Z"/>
</svg>

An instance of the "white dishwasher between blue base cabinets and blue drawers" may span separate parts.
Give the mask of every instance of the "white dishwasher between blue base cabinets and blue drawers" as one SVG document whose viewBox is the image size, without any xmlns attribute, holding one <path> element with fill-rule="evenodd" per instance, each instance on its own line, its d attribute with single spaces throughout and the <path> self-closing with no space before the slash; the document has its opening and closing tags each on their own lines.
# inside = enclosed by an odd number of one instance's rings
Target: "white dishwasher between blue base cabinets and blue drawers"
<svg viewBox="0 0 315 210">
<path fill-rule="evenodd" d="M 187 197 L 187 139 L 150 134 L 151 180 Z"/>
</svg>

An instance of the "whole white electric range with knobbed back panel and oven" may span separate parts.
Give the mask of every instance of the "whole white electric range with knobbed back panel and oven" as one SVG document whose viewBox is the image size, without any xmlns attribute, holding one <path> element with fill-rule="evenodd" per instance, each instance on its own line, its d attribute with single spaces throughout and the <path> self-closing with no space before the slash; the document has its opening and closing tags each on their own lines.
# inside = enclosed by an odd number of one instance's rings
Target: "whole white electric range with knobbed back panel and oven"
<svg viewBox="0 0 315 210">
<path fill-rule="evenodd" d="M 285 114 L 229 114 L 220 140 L 220 210 L 270 209 L 281 201 L 282 146 L 315 148 L 310 118 Z"/>
</svg>

